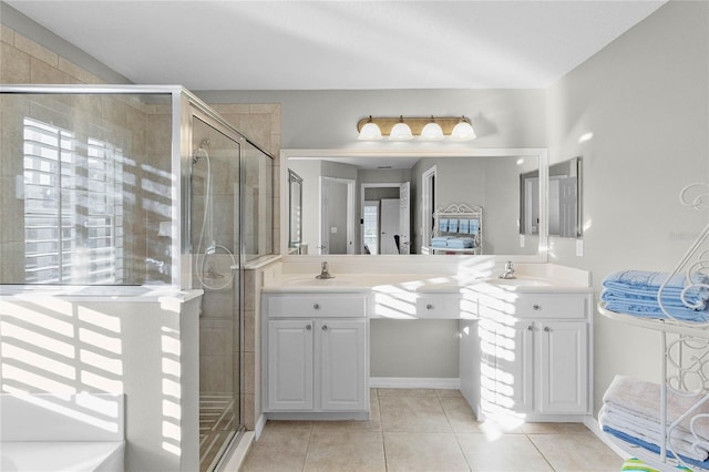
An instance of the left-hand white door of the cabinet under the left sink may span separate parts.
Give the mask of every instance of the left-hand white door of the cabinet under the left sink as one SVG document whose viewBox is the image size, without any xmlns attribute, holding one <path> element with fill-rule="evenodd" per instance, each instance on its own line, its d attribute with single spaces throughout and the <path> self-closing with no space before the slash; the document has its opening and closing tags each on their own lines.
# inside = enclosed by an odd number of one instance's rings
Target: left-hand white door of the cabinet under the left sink
<svg viewBox="0 0 709 472">
<path fill-rule="evenodd" d="M 311 410 L 312 320 L 268 321 L 268 408 Z"/>
</svg>

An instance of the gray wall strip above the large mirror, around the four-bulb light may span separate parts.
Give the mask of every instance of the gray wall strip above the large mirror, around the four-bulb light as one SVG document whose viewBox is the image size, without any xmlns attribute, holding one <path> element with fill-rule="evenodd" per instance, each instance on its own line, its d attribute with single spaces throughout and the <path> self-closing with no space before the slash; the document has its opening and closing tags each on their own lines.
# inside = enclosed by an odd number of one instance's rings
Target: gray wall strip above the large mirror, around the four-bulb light
<svg viewBox="0 0 709 472">
<path fill-rule="evenodd" d="M 196 91 L 207 103 L 280 103 L 282 148 L 371 148 L 357 141 L 357 122 L 374 116 L 461 115 L 477 140 L 445 147 L 544 147 L 543 90 Z M 421 143 L 380 144 L 391 148 Z M 425 143 L 440 147 L 440 143 Z"/>
</svg>

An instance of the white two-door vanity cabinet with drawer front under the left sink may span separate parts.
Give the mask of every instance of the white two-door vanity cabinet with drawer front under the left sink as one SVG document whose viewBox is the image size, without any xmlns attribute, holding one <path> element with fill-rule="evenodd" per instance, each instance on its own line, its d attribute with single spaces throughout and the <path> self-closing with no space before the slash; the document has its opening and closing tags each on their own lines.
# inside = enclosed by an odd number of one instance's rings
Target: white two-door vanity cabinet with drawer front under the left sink
<svg viewBox="0 0 709 472">
<path fill-rule="evenodd" d="M 267 294 L 267 412 L 369 411 L 366 294 Z"/>
</svg>

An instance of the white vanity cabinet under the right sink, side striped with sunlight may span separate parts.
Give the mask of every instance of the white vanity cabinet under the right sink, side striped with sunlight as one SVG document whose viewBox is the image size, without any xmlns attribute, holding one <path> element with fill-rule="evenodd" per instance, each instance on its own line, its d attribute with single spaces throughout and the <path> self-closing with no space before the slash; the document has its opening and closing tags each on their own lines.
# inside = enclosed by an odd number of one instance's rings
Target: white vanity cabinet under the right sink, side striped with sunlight
<svg viewBox="0 0 709 472">
<path fill-rule="evenodd" d="M 480 311 L 461 338 L 461 390 L 476 413 L 589 412 L 590 294 L 482 296 Z"/>
</svg>

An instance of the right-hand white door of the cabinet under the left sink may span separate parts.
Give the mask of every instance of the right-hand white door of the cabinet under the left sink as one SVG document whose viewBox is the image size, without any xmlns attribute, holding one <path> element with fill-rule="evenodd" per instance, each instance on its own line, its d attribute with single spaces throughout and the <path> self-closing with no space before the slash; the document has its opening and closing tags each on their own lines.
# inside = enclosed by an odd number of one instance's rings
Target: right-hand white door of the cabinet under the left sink
<svg viewBox="0 0 709 472">
<path fill-rule="evenodd" d="M 367 320 L 317 320 L 316 330 L 320 408 L 368 410 Z"/>
</svg>

